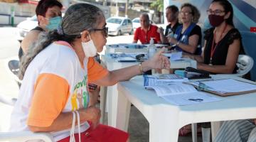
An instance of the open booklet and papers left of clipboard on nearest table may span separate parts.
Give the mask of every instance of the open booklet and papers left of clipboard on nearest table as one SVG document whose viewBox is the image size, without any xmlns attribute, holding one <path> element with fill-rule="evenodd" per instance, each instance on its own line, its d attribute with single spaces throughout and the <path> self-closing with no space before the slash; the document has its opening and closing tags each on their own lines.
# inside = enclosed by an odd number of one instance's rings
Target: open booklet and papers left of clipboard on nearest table
<svg viewBox="0 0 256 142">
<path fill-rule="evenodd" d="M 221 100 L 204 92 L 198 92 L 193 86 L 183 84 L 184 81 L 186 79 L 183 77 L 174 75 L 144 75 L 144 87 L 154 89 L 157 96 L 172 104 L 188 105 Z"/>
</svg>

